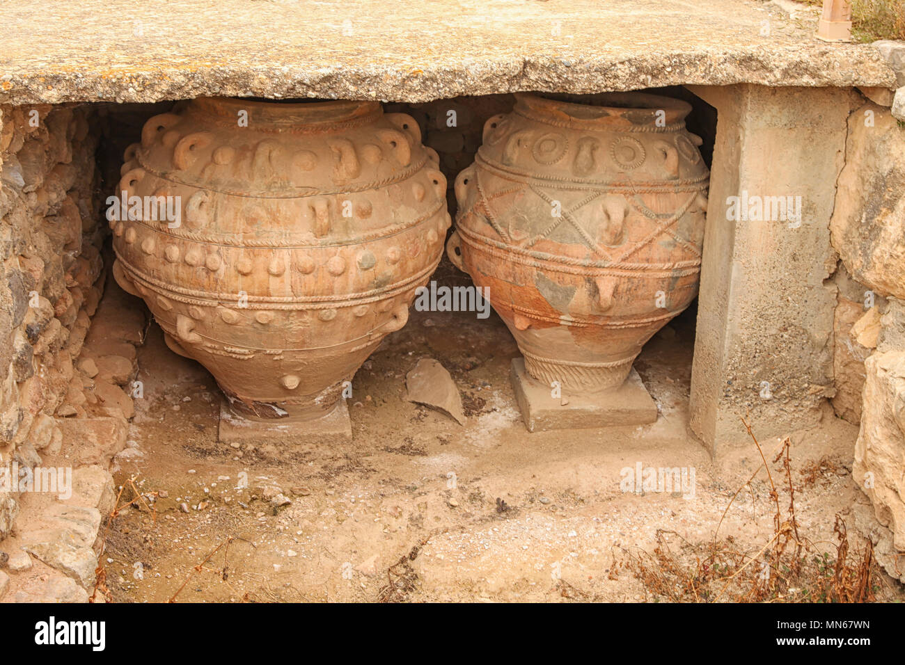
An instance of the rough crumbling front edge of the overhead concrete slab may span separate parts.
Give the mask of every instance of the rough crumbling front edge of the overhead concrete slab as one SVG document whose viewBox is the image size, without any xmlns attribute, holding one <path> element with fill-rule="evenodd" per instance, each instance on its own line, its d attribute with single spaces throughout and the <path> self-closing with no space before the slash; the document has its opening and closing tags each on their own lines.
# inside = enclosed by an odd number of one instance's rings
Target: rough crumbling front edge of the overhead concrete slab
<svg viewBox="0 0 905 665">
<path fill-rule="evenodd" d="M 393 71 L 379 62 L 365 67 L 311 64 L 242 67 L 178 67 L 146 63 L 129 69 L 87 72 L 71 68 L 33 71 L 0 66 L 0 102 L 153 102 L 205 95 L 271 98 L 335 98 L 427 101 L 458 95 L 519 90 L 587 93 L 669 85 L 752 83 L 802 87 L 896 87 L 891 66 L 870 46 L 773 52 L 680 52 L 643 57 L 579 59 L 531 57 L 518 61 L 463 61 L 460 66 Z"/>
</svg>

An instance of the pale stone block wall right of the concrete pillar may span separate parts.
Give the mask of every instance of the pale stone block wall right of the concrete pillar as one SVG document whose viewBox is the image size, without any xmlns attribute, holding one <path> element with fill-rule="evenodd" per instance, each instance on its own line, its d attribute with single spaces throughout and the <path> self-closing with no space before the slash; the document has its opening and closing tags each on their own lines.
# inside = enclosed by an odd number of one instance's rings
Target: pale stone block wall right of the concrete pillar
<svg viewBox="0 0 905 665">
<path fill-rule="evenodd" d="M 834 407 L 861 425 L 853 477 L 870 497 L 877 519 L 905 552 L 905 128 L 890 109 L 872 102 L 849 119 L 845 167 L 839 176 L 830 231 L 855 288 L 841 297 L 837 323 Z M 841 307 L 843 301 L 840 300 Z M 872 305 L 872 307 L 867 307 Z M 860 307 L 860 311 L 859 311 Z M 851 322 L 851 331 L 845 332 Z M 865 356 L 862 364 L 852 362 Z M 860 413 L 847 394 L 862 385 Z M 837 400 L 842 399 L 844 404 Z M 840 413 L 840 406 L 842 411 Z M 857 416 L 857 417 L 855 417 Z M 895 569 L 893 563 L 887 565 Z M 899 566 L 900 567 L 900 566 Z M 892 574 L 892 570 L 891 570 Z"/>
</svg>

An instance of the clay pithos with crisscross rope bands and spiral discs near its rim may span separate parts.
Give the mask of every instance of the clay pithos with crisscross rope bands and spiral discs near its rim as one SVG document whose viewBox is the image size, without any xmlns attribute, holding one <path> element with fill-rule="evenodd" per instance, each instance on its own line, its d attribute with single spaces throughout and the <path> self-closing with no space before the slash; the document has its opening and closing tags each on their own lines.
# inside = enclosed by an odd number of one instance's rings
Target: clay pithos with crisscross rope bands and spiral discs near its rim
<svg viewBox="0 0 905 665">
<path fill-rule="evenodd" d="M 535 379 L 622 385 L 697 295 L 709 172 L 690 111 L 640 93 L 519 94 L 487 121 L 447 252 L 489 289 Z"/>
</svg>

